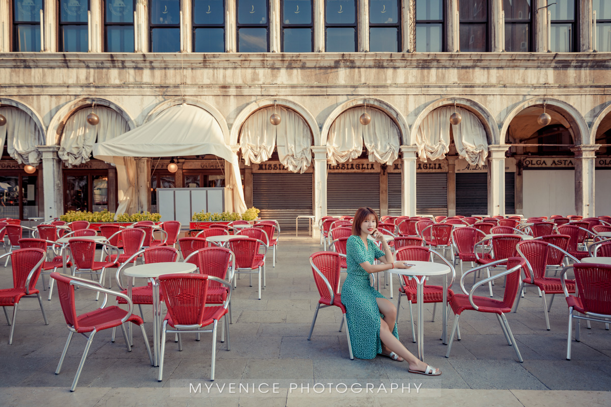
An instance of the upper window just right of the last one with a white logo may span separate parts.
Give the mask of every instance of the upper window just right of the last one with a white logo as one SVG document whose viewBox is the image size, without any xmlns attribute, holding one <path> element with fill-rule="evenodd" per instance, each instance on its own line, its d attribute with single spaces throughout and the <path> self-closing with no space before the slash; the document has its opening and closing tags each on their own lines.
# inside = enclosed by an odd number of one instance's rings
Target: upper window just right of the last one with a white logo
<svg viewBox="0 0 611 407">
<path fill-rule="evenodd" d="M 416 0 L 416 52 L 445 49 L 444 0 Z"/>
</svg>

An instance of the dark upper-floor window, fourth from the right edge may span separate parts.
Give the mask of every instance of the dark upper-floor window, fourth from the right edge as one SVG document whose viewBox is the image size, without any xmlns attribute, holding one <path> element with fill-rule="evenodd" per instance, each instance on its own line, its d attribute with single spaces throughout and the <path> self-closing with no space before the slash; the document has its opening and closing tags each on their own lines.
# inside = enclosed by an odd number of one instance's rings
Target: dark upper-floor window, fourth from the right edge
<svg viewBox="0 0 611 407">
<path fill-rule="evenodd" d="M 461 0 L 458 15 L 461 52 L 488 51 L 488 2 Z"/>
</svg>

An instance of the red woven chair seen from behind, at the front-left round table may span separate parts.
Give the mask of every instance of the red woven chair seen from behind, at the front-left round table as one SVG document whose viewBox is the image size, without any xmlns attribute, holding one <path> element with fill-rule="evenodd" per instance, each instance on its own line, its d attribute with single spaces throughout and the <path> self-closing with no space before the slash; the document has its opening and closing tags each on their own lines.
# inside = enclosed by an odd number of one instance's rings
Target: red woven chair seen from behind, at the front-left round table
<svg viewBox="0 0 611 407">
<path fill-rule="evenodd" d="M 222 284 L 229 290 L 227 303 L 224 306 L 206 306 L 208 297 L 208 284 L 210 281 Z M 159 362 L 158 381 L 163 380 L 163 359 L 166 354 L 166 334 L 178 334 L 178 350 L 183 350 L 181 334 L 184 333 L 212 333 L 212 361 L 210 366 L 210 380 L 214 380 L 214 367 L 216 364 L 216 326 L 221 318 L 227 315 L 227 306 L 231 297 L 231 284 L 220 278 L 203 274 L 165 274 L 159 276 L 159 286 L 164 292 L 164 301 L 167 307 L 166 319 L 163 321 L 161 334 L 161 359 Z M 229 324 L 224 318 L 227 327 L 227 350 L 229 344 Z M 205 326 L 213 325 L 211 330 L 203 330 Z M 221 340 L 222 342 L 222 340 Z"/>
</svg>

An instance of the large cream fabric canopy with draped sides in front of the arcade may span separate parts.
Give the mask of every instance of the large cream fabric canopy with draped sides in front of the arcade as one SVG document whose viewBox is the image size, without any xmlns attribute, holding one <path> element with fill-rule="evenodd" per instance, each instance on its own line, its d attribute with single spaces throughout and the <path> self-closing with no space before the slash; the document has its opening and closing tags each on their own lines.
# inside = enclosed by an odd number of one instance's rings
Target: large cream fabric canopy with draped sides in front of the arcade
<svg viewBox="0 0 611 407">
<path fill-rule="evenodd" d="M 213 154 L 227 160 L 232 166 L 230 185 L 232 185 L 233 211 L 246 211 L 240 165 L 238 157 L 224 142 L 218 121 L 200 107 L 190 104 L 172 106 L 159 113 L 157 117 L 138 128 L 126 132 L 115 139 L 93 145 L 93 157 L 117 165 L 119 190 L 125 191 L 126 199 L 133 199 L 128 190 L 135 182 L 127 171 L 120 171 L 125 165 L 123 157 L 180 157 Z M 123 172 L 123 174 L 119 174 Z M 133 177 L 131 177 L 133 178 Z M 229 203 L 225 203 L 227 206 Z M 120 203 L 119 209 L 124 206 Z M 117 209 L 117 213 L 121 213 Z M 231 210 L 231 208 L 227 208 Z"/>
</svg>

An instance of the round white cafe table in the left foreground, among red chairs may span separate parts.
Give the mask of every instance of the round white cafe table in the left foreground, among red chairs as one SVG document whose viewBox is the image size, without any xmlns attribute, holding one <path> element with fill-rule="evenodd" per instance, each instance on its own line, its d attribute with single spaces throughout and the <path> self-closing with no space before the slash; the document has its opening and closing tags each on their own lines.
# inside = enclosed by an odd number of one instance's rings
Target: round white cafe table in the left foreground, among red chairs
<svg viewBox="0 0 611 407">
<path fill-rule="evenodd" d="M 131 298 L 131 289 L 133 286 L 133 279 L 148 278 L 153 286 L 153 349 L 155 350 L 155 366 L 159 366 L 159 350 L 161 349 L 161 301 L 159 301 L 159 282 L 157 278 L 163 274 L 178 274 L 178 273 L 192 273 L 197 269 L 195 264 L 183 263 L 183 262 L 161 262 L 161 263 L 150 263 L 134 265 L 126 268 L 123 271 L 125 276 L 128 276 L 128 287 L 127 295 Z M 130 329 L 130 342 L 131 342 L 131 323 L 128 324 Z"/>
</svg>

